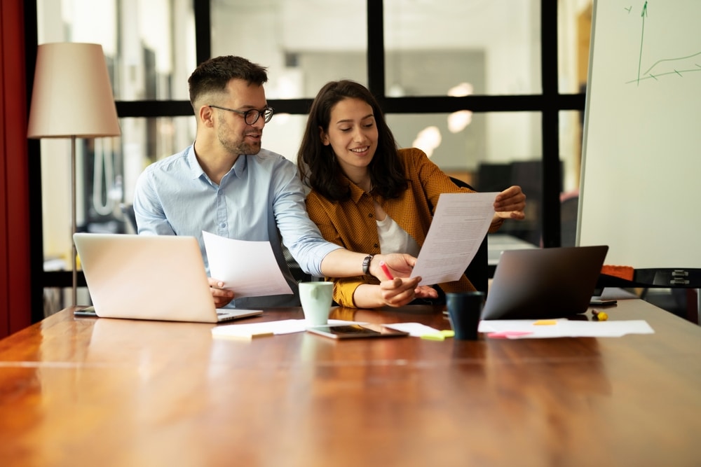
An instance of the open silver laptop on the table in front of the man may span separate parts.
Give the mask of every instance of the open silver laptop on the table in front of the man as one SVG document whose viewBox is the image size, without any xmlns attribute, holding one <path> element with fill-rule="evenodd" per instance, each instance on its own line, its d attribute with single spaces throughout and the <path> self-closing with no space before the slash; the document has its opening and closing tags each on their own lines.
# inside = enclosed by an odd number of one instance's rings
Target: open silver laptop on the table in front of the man
<svg viewBox="0 0 701 467">
<path fill-rule="evenodd" d="M 221 323 L 260 309 L 217 309 L 195 237 L 76 233 L 78 257 L 101 318 Z"/>
</svg>

